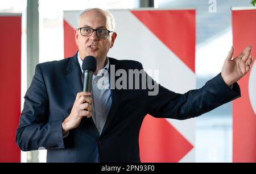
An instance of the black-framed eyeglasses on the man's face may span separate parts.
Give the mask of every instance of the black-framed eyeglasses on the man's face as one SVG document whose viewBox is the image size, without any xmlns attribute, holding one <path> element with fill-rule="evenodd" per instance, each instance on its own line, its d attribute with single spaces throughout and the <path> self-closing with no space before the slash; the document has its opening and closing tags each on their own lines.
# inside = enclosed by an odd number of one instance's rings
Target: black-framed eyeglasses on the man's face
<svg viewBox="0 0 256 174">
<path fill-rule="evenodd" d="M 93 29 L 88 27 L 80 27 L 80 28 L 77 28 L 77 30 L 80 30 L 80 33 L 82 36 L 91 36 L 93 34 L 93 31 L 96 31 L 96 35 L 99 38 L 107 38 L 110 32 L 114 32 L 106 29 Z"/>
</svg>

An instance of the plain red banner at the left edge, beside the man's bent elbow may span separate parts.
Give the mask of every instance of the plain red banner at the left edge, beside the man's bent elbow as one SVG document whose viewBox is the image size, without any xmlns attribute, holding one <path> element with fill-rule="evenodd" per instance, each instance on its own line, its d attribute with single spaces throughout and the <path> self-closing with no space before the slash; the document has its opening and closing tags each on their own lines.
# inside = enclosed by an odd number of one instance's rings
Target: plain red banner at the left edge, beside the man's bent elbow
<svg viewBox="0 0 256 174">
<path fill-rule="evenodd" d="M 21 16 L 0 16 L 0 162 L 20 162 Z"/>
</svg>

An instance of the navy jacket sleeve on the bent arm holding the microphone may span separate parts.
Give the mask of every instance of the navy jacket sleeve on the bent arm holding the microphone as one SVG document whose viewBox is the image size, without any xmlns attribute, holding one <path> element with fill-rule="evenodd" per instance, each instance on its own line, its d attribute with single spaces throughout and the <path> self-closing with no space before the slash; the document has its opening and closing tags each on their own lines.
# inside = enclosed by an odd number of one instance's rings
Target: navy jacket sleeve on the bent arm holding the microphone
<svg viewBox="0 0 256 174">
<path fill-rule="evenodd" d="M 24 97 L 24 107 L 16 130 L 16 144 L 22 151 L 64 148 L 63 119 L 48 122 L 49 100 L 40 65 Z"/>
</svg>

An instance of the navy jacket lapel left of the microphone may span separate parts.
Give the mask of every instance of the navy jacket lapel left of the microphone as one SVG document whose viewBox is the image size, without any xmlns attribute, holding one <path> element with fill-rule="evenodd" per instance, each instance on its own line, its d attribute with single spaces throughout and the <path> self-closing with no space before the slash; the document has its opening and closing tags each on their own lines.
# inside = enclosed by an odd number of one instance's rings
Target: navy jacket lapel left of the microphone
<svg viewBox="0 0 256 174">
<path fill-rule="evenodd" d="M 69 86 L 76 94 L 82 91 L 82 81 L 81 81 L 81 68 L 79 62 L 77 61 L 77 54 L 71 58 L 67 67 L 67 74 L 65 76 L 68 81 Z"/>
</svg>

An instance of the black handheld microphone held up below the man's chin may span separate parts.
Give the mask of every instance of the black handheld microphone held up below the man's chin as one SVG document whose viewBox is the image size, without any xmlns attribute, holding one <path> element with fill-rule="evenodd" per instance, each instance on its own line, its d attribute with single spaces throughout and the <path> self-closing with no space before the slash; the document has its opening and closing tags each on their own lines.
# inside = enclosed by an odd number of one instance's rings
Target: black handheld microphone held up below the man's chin
<svg viewBox="0 0 256 174">
<path fill-rule="evenodd" d="M 92 77 L 97 69 L 97 61 L 94 56 L 86 56 L 82 61 L 82 71 L 84 71 L 84 88 L 83 91 L 91 92 Z"/>
</svg>

